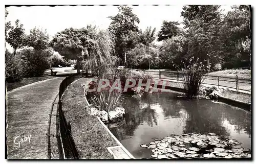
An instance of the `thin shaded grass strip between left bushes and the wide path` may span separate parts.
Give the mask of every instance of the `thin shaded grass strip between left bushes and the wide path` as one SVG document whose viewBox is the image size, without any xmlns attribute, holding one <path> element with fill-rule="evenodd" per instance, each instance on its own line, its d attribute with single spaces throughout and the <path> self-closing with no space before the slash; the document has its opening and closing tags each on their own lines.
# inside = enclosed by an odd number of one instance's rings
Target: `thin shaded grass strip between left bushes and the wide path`
<svg viewBox="0 0 256 164">
<path fill-rule="evenodd" d="M 42 81 L 42 80 L 46 80 L 46 79 L 51 79 L 54 78 L 54 76 L 49 76 L 49 75 L 43 75 L 40 77 L 30 77 L 30 78 L 24 78 L 23 80 L 19 81 L 19 82 L 13 82 L 13 83 L 8 83 L 6 82 L 6 87 L 7 87 L 7 91 L 10 91 L 12 89 L 24 86 L 24 85 L 28 85 L 37 81 Z"/>
</svg>

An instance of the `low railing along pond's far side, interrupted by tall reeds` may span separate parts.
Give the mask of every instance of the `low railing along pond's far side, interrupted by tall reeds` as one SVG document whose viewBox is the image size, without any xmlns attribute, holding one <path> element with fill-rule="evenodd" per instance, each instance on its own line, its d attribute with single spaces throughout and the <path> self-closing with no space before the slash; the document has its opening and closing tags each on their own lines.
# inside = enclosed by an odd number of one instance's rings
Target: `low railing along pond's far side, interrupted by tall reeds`
<svg viewBox="0 0 256 164">
<path fill-rule="evenodd" d="M 152 75 L 152 77 L 154 78 L 176 80 L 177 82 L 184 81 L 183 72 L 179 72 L 179 71 L 172 71 L 172 72 L 145 71 L 145 73 Z M 251 80 L 242 79 L 242 78 L 239 78 L 238 76 L 234 78 L 229 78 L 229 77 L 206 75 L 202 84 L 215 85 L 215 86 L 218 86 L 219 88 L 220 86 L 233 88 L 233 89 L 236 89 L 237 91 L 239 90 L 251 91 Z"/>
</svg>

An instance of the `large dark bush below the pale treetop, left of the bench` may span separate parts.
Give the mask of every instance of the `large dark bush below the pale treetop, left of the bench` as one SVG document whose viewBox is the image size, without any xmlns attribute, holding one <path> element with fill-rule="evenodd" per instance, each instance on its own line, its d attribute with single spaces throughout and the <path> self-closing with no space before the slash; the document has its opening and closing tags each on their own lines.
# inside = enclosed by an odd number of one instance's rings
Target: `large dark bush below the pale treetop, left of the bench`
<svg viewBox="0 0 256 164">
<path fill-rule="evenodd" d="M 50 67 L 50 57 L 52 50 L 35 51 L 32 48 L 20 51 L 23 62 L 25 77 L 41 76 Z"/>
</svg>

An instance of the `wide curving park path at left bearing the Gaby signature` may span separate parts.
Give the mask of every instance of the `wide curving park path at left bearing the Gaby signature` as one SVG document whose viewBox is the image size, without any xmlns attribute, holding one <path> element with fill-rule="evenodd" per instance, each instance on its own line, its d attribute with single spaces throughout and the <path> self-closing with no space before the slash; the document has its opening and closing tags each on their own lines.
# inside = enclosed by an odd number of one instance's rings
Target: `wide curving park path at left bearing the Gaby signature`
<svg viewBox="0 0 256 164">
<path fill-rule="evenodd" d="M 8 159 L 47 159 L 49 113 L 64 78 L 48 79 L 7 92 Z"/>
</svg>

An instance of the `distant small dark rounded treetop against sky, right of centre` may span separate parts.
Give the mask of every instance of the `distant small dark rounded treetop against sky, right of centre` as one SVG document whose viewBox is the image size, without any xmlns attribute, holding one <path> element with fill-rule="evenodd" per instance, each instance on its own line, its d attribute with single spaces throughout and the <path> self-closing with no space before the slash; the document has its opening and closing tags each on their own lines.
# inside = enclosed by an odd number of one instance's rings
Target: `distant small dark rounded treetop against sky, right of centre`
<svg viewBox="0 0 256 164">
<path fill-rule="evenodd" d="M 158 32 L 157 41 L 166 40 L 180 33 L 178 21 L 163 21 L 161 30 Z"/>
</svg>

